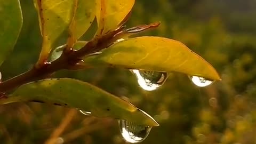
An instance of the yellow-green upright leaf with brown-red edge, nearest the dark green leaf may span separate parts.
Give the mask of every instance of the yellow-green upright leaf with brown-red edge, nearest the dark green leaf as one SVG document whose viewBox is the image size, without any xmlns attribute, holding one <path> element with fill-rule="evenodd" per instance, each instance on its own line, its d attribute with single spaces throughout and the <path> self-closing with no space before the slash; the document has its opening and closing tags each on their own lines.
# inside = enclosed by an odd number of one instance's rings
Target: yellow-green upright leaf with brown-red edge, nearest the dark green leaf
<svg viewBox="0 0 256 144">
<path fill-rule="evenodd" d="M 74 1 L 70 0 L 34 0 L 38 11 L 39 26 L 43 37 L 39 60 L 46 60 L 53 43 L 68 28 Z"/>
</svg>

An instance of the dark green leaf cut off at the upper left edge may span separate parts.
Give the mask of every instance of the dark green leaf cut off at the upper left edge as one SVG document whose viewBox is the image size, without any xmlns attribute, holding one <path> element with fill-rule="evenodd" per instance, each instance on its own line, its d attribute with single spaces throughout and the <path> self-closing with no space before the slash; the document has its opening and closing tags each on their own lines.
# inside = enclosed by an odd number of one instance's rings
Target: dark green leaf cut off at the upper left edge
<svg viewBox="0 0 256 144">
<path fill-rule="evenodd" d="M 19 37 L 22 13 L 19 0 L 0 0 L 0 66 Z"/>
</svg>

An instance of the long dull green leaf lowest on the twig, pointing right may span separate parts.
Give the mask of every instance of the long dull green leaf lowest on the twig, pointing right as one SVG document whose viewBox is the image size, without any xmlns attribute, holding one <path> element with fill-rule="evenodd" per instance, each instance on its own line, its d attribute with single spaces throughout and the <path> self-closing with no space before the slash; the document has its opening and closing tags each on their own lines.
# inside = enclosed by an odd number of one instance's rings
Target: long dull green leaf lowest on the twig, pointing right
<svg viewBox="0 0 256 144">
<path fill-rule="evenodd" d="M 144 111 L 89 83 L 71 78 L 44 79 L 20 86 L 0 103 L 37 101 L 91 111 L 97 117 L 113 117 L 148 126 L 157 122 Z"/>
</svg>

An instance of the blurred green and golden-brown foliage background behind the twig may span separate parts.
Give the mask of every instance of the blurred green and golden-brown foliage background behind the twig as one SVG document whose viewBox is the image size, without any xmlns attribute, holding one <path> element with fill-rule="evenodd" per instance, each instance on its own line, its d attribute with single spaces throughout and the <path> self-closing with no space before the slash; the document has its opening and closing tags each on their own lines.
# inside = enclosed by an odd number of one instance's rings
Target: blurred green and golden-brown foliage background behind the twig
<svg viewBox="0 0 256 144">
<path fill-rule="evenodd" d="M 21 1 L 21 7 L 23 28 L 0 68 L 3 79 L 28 70 L 39 55 L 42 41 L 33 1 Z M 142 143 L 256 143 L 255 18 L 255 0 L 136 1 L 127 26 L 161 21 L 158 29 L 141 35 L 176 39 L 200 54 L 222 78 L 208 87 L 173 74 L 161 89 L 147 92 L 129 70 L 113 68 L 63 70 L 54 76 L 90 82 L 147 111 L 160 126 Z M 41 103 L 0 106 L 0 143 L 45 143 L 51 137 L 58 138 L 55 143 L 125 143 L 115 119 Z"/>
</svg>

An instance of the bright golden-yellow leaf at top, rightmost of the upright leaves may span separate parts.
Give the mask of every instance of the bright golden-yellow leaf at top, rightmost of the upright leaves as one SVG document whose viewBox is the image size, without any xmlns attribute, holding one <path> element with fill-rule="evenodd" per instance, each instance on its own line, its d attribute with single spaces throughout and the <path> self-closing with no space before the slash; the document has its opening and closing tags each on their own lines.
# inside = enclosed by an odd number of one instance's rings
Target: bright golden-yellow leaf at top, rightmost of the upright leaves
<svg viewBox="0 0 256 144">
<path fill-rule="evenodd" d="M 104 35 L 122 25 L 130 13 L 134 0 L 96 0 L 97 35 Z"/>
</svg>

